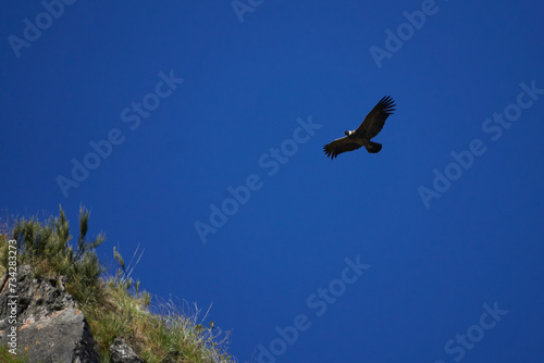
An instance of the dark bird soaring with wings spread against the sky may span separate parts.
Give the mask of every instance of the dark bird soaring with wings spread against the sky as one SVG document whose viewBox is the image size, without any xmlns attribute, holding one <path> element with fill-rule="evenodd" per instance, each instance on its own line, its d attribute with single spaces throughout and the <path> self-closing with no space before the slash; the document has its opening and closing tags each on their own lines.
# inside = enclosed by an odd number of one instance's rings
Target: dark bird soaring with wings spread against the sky
<svg viewBox="0 0 544 363">
<path fill-rule="evenodd" d="M 366 147 L 370 153 L 382 150 L 381 143 L 370 141 L 370 139 L 382 130 L 385 120 L 395 111 L 394 107 L 395 101 L 391 96 L 382 98 L 357 129 L 344 132 L 346 136 L 323 147 L 326 157 L 331 157 L 331 160 L 333 160 L 339 153 L 357 150 L 360 147 Z"/>
</svg>

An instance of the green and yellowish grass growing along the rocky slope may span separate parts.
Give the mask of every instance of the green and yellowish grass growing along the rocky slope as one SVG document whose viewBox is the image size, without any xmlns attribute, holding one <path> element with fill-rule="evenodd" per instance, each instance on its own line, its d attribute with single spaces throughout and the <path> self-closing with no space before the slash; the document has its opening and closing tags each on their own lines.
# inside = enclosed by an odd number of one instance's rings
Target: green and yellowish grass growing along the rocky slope
<svg viewBox="0 0 544 363">
<path fill-rule="evenodd" d="M 66 290 L 89 323 L 101 363 L 111 362 L 109 347 L 118 337 L 148 363 L 235 362 L 226 352 L 228 334 L 214 327 L 213 322 L 203 325 L 208 312 L 200 316 L 201 310 L 196 305 L 160 301 L 140 291 L 139 281 L 131 277 L 134 268 L 125 265 L 115 248 L 114 274 L 106 274 L 96 254 L 104 236 L 88 240 L 88 221 L 89 212 L 82 208 L 74 247 L 62 208 L 58 217 L 46 222 L 22 218 L 15 221 L 11 230 L 5 224 L 0 225 L 0 273 L 8 266 L 7 241 L 16 239 L 18 264 L 34 266 L 37 277 L 66 276 Z M 157 302 L 151 304 L 151 300 Z M 4 352 L 0 350 L 1 362 L 24 362 L 8 361 L 13 358 L 9 352 L 4 360 Z"/>
</svg>

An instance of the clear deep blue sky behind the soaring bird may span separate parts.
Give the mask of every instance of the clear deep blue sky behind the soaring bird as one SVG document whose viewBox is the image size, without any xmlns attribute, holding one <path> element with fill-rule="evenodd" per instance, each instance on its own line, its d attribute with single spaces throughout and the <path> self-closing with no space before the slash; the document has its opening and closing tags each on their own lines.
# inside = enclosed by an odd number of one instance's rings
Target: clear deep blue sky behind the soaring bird
<svg viewBox="0 0 544 363">
<path fill-rule="evenodd" d="M 86 205 L 240 362 L 540 362 L 543 11 L 3 2 L 0 206 Z M 327 160 L 387 95 L 382 151 Z"/>
</svg>

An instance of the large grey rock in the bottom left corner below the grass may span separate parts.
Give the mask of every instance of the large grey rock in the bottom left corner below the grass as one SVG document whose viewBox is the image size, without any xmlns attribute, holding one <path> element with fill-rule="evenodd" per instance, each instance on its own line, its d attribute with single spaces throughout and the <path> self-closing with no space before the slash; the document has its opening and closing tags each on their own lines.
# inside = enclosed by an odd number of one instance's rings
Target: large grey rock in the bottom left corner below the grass
<svg viewBox="0 0 544 363">
<path fill-rule="evenodd" d="M 73 297 L 64 292 L 65 278 L 36 278 L 32 271 L 18 266 L 15 280 L 8 275 L 0 280 L 0 345 L 13 348 L 9 334 L 16 327 L 16 352 L 26 352 L 30 362 L 97 363 L 90 328 Z"/>
</svg>

